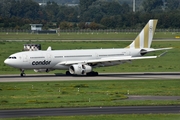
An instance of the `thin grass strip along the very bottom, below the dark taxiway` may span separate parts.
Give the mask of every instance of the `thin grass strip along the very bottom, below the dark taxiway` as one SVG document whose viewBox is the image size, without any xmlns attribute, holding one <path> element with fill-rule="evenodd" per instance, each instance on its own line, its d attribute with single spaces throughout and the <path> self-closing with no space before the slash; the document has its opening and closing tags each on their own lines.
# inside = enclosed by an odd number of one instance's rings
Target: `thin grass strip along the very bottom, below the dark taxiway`
<svg viewBox="0 0 180 120">
<path fill-rule="evenodd" d="M 179 120 L 180 114 L 124 114 L 7 118 L 6 120 Z"/>
</svg>

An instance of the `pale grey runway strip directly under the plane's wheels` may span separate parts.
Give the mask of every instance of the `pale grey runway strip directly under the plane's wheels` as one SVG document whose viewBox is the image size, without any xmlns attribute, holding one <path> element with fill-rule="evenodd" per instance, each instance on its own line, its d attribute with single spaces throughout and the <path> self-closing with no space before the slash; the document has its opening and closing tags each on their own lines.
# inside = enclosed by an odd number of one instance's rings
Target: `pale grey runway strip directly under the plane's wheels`
<svg viewBox="0 0 180 120">
<path fill-rule="evenodd" d="M 148 72 L 148 73 L 100 73 L 99 76 L 66 76 L 65 74 L 27 74 L 0 75 L 0 82 L 25 82 L 25 81 L 71 81 L 71 80 L 168 80 L 180 79 L 180 72 Z"/>
</svg>

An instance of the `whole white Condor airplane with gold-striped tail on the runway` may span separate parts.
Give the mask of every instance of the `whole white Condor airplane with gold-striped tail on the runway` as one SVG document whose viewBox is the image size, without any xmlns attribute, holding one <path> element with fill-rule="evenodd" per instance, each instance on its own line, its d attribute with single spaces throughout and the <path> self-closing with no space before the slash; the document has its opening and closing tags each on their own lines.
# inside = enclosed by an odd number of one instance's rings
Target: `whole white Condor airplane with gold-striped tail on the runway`
<svg viewBox="0 0 180 120">
<path fill-rule="evenodd" d="M 10 55 L 4 63 L 21 71 L 34 69 L 35 72 L 49 72 L 56 69 L 67 70 L 66 75 L 97 76 L 93 68 L 114 66 L 132 60 L 152 59 L 158 56 L 144 56 L 147 53 L 168 50 L 169 48 L 150 48 L 157 25 L 157 19 L 151 19 L 136 39 L 125 48 L 85 49 L 85 50 L 47 50 L 23 51 Z M 163 53 L 164 54 L 164 53 Z"/>
</svg>

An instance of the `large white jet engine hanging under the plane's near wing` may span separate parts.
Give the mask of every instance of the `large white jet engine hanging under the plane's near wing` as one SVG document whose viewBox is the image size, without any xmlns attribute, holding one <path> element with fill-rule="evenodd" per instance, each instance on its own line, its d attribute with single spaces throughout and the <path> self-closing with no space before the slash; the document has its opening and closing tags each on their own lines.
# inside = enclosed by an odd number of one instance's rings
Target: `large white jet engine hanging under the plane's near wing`
<svg viewBox="0 0 180 120">
<path fill-rule="evenodd" d="M 83 64 L 74 64 L 69 67 L 69 72 L 76 75 L 84 75 L 92 71 L 92 67 Z"/>
</svg>

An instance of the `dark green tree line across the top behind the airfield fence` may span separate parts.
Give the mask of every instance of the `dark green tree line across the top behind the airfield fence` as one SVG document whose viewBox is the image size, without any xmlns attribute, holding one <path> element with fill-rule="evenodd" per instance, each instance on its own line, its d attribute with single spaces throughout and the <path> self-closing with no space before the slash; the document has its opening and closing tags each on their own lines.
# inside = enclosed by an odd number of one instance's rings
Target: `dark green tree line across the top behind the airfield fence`
<svg viewBox="0 0 180 120">
<path fill-rule="evenodd" d="M 44 29 L 127 29 L 142 28 L 149 19 L 158 19 L 158 28 L 179 28 L 179 0 L 143 0 L 133 12 L 127 3 L 116 0 L 79 0 L 78 6 L 34 0 L 1 0 L 0 28 L 30 29 L 29 24 L 43 24 Z"/>
</svg>

